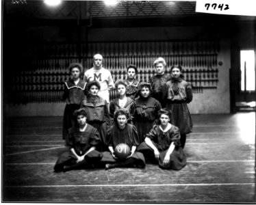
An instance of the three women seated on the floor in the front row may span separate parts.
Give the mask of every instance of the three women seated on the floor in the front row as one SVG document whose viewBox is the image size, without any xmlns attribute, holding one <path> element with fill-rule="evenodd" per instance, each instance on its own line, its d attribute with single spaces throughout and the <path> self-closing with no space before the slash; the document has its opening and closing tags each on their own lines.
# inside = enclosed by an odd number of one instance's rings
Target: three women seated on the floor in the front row
<svg viewBox="0 0 256 205">
<path fill-rule="evenodd" d="M 136 126 L 127 123 L 127 109 L 117 109 L 114 112 L 114 123 L 107 130 L 105 142 L 101 141 L 97 128 L 86 122 L 88 109 L 78 109 L 74 112 L 77 124 L 68 130 L 66 144 L 68 152 L 64 152 L 55 164 L 55 172 L 67 172 L 72 169 L 88 169 L 92 167 L 138 167 L 144 168 L 146 161 L 157 163 L 163 169 L 179 170 L 186 165 L 186 156 L 180 145 L 179 128 L 170 124 L 170 111 L 159 112 L 160 124 L 155 124 L 145 135 L 142 143 L 139 141 Z M 100 152 L 102 143 L 108 151 Z M 116 158 L 114 148 L 119 143 L 126 143 L 131 149 L 127 159 Z"/>
</svg>

